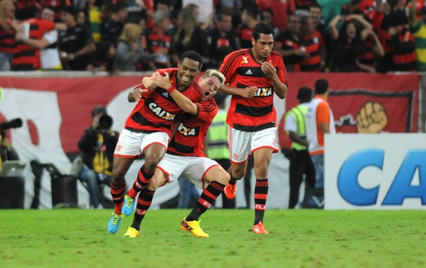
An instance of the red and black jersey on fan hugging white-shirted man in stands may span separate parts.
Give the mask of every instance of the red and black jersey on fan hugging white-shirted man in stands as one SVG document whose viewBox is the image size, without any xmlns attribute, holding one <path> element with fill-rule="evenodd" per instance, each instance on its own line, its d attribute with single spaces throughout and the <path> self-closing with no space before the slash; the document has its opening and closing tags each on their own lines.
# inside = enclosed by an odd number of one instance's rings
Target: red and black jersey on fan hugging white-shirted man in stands
<svg viewBox="0 0 426 268">
<path fill-rule="evenodd" d="M 30 38 L 41 40 L 45 32 L 54 30 L 55 23 L 52 21 L 43 21 L 41 19 L 27 19 L 21 22 L 30 24 Z M 30 47 L 22 42 L 16 43 L 12 58 L 12 69 L 14 71 L 29 71 L 41 67 L 40 49 Z"/>
</svg>

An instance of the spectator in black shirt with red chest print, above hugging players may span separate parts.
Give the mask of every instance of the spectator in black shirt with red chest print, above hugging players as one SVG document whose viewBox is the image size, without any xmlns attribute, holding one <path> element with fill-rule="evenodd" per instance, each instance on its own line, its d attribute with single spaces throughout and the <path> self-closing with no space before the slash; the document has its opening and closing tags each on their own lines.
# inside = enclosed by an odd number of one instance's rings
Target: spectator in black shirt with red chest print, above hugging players
<svg viewBox="0 0 426 268">
<path fill-rule="evenodd" d="M 223 58 L 230 52 L 240 49 L 238 36 L 232 28 L 232 16 L 230 14 L 219 13 L 216 26 L 210 30 L 210 55 L 212 56 L 212 67 L 219 67 Z M 228 53 L 223 55 L 224 50 Z"/>
</svg>

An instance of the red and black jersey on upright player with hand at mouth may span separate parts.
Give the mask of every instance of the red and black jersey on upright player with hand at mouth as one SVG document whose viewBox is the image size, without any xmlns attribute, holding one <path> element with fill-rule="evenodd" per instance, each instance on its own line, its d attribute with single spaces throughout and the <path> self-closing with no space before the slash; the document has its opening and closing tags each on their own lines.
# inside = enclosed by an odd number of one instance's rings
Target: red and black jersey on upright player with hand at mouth
<svg viewBox="0 0 426 268">
<path fill-rule="evenodd" d="M 271 61 L 280 81 L 287 85 L 287 71 L 281 54 L 271 52 L 266 62 Z M 226 122 L 240 131 L 260 131 L 276 126 L 276 111 L 273 107 L 273 84 L 262 71 L 251 49 L 240 49 L 228 54 L 220 69 L 230 87 L 245 89 L 257 87 L 256 96 L 245 99 L 232 96 Z"/>
</svg>

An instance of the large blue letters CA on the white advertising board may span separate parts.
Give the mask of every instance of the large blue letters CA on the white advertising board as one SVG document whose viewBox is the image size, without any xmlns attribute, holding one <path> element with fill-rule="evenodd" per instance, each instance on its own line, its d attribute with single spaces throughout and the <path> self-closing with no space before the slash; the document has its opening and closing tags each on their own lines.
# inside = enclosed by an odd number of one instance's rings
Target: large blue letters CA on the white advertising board
<svg viewBox="0 0 426 268">
<path fill-rule="evenodd" d="M 364 168 L 376 167 L 383 170 L 384 158 L 385 150 L 377 148 L 360 150 L 348 157 L 341 166 L 337 177 L 337 188 L 341 197 L 352 205 L 377 204 L 381 185 L 374 188 L 363 188 L 359 184 L 358 177 Z M 419 183 L 414 185 L 412 181 L 417 171 Z M 425 149 L 407 151 L 381 205 L 402 205 L 406 198 L 421 199 L 422 205 L 426 205 Z"/>
</svg>

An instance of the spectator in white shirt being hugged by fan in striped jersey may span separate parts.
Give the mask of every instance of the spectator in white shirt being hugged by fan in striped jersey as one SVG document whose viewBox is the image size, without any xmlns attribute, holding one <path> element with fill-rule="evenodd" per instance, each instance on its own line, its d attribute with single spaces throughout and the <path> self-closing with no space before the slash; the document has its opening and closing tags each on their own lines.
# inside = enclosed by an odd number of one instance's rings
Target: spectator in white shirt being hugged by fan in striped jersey
<svg viewBox="0 0 426 268">
<path fill-rule="evenodd" d="M 45 21 L 54 21 L 54 12 L 49 8 L 43 8 L 41 12 L 41 19 Z M 21 41 L 25 45 L 40 49 L 41 69 L 43 70 L 60 70 L 62 64 L 60 63 L 58 51 L 58 31 L 52 30 L 45 32 L 43 38 L 22 38 Z"/>
</svg>

